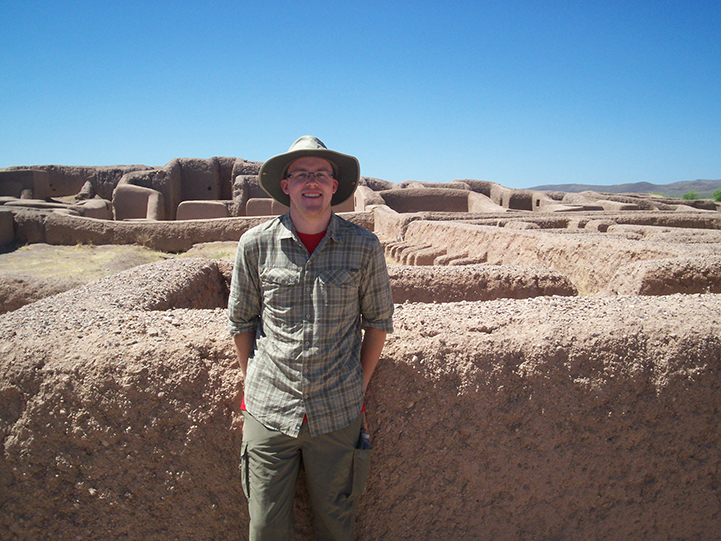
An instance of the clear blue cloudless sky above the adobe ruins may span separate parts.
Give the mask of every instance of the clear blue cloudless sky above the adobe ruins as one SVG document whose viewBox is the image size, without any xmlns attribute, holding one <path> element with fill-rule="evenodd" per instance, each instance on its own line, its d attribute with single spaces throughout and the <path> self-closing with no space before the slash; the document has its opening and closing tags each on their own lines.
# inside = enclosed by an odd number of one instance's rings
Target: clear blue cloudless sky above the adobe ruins
<svg viewBox="0 0 721 541">
<path fill-rule="evenodd" d="M 721 178 L 718 0 L 0 0 L 0 75 L 0 167 L 313 134 L 392 182 Z"/>
</svg>

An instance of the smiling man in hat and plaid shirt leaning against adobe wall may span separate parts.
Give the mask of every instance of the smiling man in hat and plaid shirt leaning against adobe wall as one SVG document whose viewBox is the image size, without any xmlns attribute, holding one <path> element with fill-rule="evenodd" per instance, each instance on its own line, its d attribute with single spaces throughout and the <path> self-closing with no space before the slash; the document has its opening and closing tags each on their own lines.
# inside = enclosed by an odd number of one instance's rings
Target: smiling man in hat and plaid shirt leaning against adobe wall
<svg viewBox="0 0 721 541">
<path fill-rule="evenodd" d="M 238 243 L 228 316 L 245 378 L 251 540 L 294 538 L 301 460 L 316 539 L 354 537 L 368 472 L 363 394 L 393 330 L 378 239 L 331 210 L 359 179 L 356 158 L 301 137 L 260 170 L 263 189 L 290 210 Z"/>
</svg>

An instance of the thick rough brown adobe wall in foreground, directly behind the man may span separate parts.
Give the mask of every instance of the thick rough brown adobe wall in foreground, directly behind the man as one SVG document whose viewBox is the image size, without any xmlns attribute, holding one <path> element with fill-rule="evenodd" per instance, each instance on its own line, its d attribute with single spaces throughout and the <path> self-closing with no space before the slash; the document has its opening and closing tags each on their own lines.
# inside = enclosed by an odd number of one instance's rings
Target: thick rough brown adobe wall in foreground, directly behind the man
<svg viewBox="0 0 721 541">
<path fill-rule="evenodd" d="M 0 538 L 246 539 L 229 271 L 164 261 L 0 316 Z M 714 538 L 719 314 L 712 294 L 397 305 L 358 538 Z"/>
</svg>

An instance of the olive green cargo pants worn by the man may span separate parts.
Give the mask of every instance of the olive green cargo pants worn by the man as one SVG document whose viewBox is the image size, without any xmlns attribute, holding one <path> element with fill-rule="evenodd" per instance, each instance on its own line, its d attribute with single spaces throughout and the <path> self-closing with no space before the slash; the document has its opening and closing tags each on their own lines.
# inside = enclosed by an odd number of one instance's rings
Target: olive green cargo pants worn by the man
<svg viewBox="0 0 721 541">
<path fill-rule="evenodd" d="M 251 541 L 295 538 L 293 497 L 305 467 L 313 529 L 318 540 L 352 540 L 358 497 L 365 488 L 370 450 L 361 449 L 363 415 L 335 432 L 297 438 L 269 430 L 243 412 L 241 482 L 248 499 Z"/>
</svg>

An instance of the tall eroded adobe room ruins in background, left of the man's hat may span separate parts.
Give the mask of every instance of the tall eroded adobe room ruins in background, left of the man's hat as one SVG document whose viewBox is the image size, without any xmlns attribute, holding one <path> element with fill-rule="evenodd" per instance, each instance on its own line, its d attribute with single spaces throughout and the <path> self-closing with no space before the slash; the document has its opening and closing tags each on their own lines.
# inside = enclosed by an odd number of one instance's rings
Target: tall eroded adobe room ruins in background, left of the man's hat
<svg viewBox="0 0 721 541">
<path fill-rule="evenodd" d="M 260 163 L 178 158 L 161 168 L 34 166 L 0 170 L 10 207 L 57 209 L 103 220 L 194 220 L 282 214 L 257 183 Z M 352 202 L 337 210 L 353 210 Z"/>
</svg>

